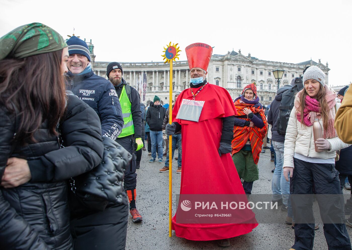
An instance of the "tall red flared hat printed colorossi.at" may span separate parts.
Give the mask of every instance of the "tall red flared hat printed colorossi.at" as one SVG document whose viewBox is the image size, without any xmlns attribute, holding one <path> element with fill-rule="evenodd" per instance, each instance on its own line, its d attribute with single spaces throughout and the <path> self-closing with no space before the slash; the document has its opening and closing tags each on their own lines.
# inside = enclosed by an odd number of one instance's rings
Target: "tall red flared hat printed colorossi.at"
<svg viewBox="0 0 352 250">
<path fill-rule="evenodd" d="M 212 57 L 213 48 L 205 43 L 193 43 L 186 47 L 186 55 L 188 60 L 189 69 L 201 68 L 205 71 L 208 70 L 210 57 Z"/>
</svg>

